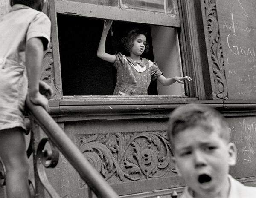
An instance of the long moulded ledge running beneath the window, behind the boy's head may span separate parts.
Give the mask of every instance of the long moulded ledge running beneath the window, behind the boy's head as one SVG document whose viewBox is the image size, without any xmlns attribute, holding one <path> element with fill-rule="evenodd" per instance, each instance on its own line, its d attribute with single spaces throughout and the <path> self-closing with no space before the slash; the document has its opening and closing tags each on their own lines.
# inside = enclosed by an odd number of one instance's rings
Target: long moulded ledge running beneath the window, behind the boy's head
<svg viewBox="0 0 256 198">
<path fill-rule="evenodd" d="M 64 97 L 49 101 L 50 114 L 57 121 L 168 118 L 170 112 L 189 103 L 209 104 L 224 116 L 256 115 L 256 100 L 197 100 L 170 96 Z"/>
</svg>

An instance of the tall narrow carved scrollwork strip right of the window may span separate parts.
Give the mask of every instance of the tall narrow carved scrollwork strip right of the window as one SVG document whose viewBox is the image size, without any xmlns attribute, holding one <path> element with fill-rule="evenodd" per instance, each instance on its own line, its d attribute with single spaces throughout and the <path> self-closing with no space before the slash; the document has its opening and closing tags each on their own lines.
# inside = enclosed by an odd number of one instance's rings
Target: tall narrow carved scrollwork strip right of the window
<svg viewBox="0 0 256 198">
<path fill-rule="evenodd" d="M 214 95 L 217 99 L 227 99 L 227 80 L 225 76 L 223 52 L 218 26 L 216 0 L 204 0 L 204 6 L 207 21 L 206 37 L 208 36 L 209 38 L 209 48 L 211 53 L 211 60 L 209 60 L 209 63 L 212 64 L 212 72 L 214 75 Z"/>
</svg>

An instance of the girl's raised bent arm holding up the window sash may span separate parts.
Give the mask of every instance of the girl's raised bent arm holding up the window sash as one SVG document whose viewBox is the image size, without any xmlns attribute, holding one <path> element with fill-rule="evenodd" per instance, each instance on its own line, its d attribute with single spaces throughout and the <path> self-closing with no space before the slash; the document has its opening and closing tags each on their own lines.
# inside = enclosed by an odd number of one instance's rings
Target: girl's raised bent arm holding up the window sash
<svg viewBox="0 0 256 198">
<path fill-rule="evenodd" d="M 114 63 L 116 61 L 116 55 L 111 55 L 105 52 L 105 43 L 106 43 L 106 38 L 108 35 L 108 31 L 112 25 L 112 20 L 104 20 L 104 26 L 103 26 L 103 31 L 102 31 L 102 37 L 99 41 L 99 47 L 97 51 L 97 57 L 106 60 L 108 62 Z"/>
</svg>

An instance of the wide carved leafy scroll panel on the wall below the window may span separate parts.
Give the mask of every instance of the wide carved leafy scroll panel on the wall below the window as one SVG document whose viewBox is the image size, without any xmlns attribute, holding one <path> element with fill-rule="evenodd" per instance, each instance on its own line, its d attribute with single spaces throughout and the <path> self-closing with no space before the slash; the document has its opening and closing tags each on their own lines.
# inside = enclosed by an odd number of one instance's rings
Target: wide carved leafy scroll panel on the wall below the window
<svg viewBox="0 0 256 198">
<path fill-rule="evenodd" d="M 106 180 L 115 183 L 176 173 L 166 132 L 80 135 L 81 152 Z M 85 185 L 79 179 L 80 187 Z"/>
</svg>

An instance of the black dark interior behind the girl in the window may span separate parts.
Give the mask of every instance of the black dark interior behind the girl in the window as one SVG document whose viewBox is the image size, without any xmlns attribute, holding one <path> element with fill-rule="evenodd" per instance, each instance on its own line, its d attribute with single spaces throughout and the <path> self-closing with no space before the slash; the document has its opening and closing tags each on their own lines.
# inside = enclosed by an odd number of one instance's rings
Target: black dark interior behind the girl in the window
<svg viewBox="0 0 256 198">
<path fill-rule="evenodd" d="M 113 63 L 96 56 L 103 20 L 57 14 L 57 21 L 63 95 L 113 95 L 116 69 Z M 105 51 L 125 54 L 120 40 L 134 28 L 148 32 L 150 50 L 144 57 L 154 61 L 150 25 L 114 21 L 113 36 L 108 34 Z M 155 81 L 151 81 L 148 95 L 157 95 Z"/>
</svg>

